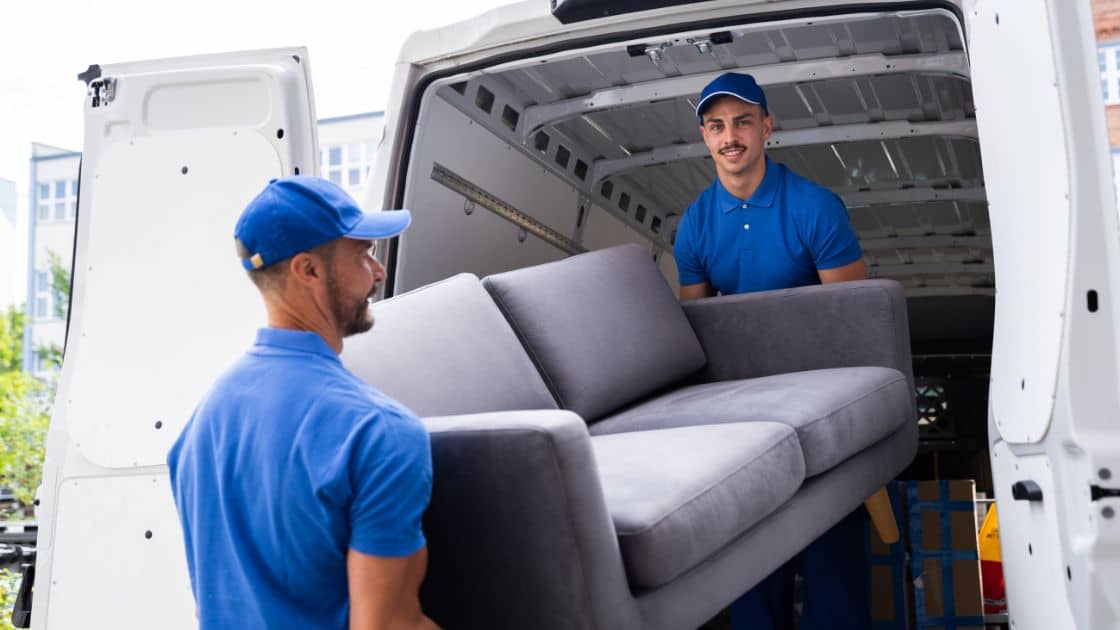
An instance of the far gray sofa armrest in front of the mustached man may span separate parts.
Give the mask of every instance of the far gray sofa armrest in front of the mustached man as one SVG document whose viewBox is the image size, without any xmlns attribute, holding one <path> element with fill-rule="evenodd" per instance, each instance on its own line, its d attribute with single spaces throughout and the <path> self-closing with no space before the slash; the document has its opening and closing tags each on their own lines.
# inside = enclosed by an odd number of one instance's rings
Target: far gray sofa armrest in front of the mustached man
<svg viewBox="0 0 1120 630">
<path fill-rule="evenodd" d="M 823 368 L 879 365 L 911 387 L 906 297 L 894 280 L 859 280 L 696 299 L 682 304 L 721 381 Z"/>
</svg>

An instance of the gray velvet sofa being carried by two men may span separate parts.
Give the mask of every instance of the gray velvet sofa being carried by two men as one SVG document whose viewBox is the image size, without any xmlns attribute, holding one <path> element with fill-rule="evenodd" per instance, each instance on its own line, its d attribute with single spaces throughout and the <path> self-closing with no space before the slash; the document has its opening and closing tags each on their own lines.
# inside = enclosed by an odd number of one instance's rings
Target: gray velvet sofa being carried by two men
<svg viewBox="0 0 1120 630">
<path fill-rule="evenodd" d="M 697 628 L 917 446 L 893 281 L 680 304 L 624 245 L 374 315 L 343 360 L 431 432 L 447 628 Z"/>
</svg>

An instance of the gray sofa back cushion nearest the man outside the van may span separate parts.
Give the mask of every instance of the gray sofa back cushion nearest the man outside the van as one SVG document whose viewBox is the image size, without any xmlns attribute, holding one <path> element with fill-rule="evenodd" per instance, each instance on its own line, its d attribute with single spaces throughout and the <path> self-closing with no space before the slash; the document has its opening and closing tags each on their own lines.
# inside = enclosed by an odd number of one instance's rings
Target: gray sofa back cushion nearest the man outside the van
<svg viewBox="0 0 1120 630">
<path fill-rule="evenodd" d="M 475 276 L 379 302 L 373 315 L 370 332 L 345 341 L 343 362 L 417 414 L 557 408 Z"/>
</svg>

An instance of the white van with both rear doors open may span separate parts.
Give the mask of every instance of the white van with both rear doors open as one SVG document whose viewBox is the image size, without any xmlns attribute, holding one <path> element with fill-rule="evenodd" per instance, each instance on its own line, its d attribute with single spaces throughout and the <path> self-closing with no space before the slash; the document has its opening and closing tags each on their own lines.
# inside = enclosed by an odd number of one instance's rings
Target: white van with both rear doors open
<svg viewBox="0 0 1120 630">
<path fill-rule="evenodd" d="M 383 250 L 386 294 L 623 242 L 675 286 L 676 221 L 713 178 L 696 95 L 750 72 L 771 155 L 840 194 L 870 275 L 906 287 L 916 359 L 987 378 L 972 419 L 1010 626 L 1120 628 L 1120 241 L 1094 50 L 1090 0 L 528 0 L 418 33 L 365 198 L 414 215 Z M 85 78 L 31 623 L 190 628 L 165 456 L 264 321 L 230 237 L 269 178 L 317 173 L 309 58 Z M 1017 500 L 1020 481 L 1037 488 Z"/>
</svg>

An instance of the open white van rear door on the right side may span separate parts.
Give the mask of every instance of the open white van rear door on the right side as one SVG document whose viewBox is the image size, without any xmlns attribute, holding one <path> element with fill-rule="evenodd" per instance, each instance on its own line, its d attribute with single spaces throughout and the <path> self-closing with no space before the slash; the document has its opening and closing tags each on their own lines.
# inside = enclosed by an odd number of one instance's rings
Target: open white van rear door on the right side
<svg viewBox="0 0 1120 630">
<path fill-rule="evenodd" d="M 1011 627 L 1120 622 L 1117 210 L 1090 0 L 964 11 L 995 250 L 989 400 Z"/>
</svg>

